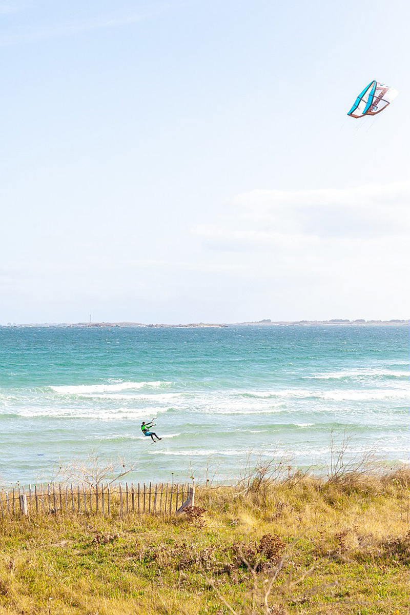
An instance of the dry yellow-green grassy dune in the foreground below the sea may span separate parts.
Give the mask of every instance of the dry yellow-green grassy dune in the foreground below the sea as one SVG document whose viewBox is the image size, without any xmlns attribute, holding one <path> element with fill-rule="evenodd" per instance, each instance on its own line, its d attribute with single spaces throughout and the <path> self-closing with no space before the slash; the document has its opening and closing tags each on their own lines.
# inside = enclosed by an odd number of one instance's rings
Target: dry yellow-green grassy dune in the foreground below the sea
<svg viewBox="0 0 410 615">
<path fill-rule="evenodd" d="M 0 520 L 0 614 L 409 612 L 406 471 L 196 498 L 178 519 Z"/>
</svg>

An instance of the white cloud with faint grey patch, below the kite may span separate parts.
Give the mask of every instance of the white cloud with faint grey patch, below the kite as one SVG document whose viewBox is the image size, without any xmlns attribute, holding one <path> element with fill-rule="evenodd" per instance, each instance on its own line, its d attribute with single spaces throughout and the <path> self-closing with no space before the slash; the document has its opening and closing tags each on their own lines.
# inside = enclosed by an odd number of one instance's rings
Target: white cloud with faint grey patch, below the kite
<svg viewBox="0 0 410 615">
<path fill-rule="evenodd" d="M 349 189 L 254 190 L 232 200 L 231 213 L 192 232 L 219 250 L 312 244 L 321 239 L 406 236 L 410 182 Z"/>
</svg>

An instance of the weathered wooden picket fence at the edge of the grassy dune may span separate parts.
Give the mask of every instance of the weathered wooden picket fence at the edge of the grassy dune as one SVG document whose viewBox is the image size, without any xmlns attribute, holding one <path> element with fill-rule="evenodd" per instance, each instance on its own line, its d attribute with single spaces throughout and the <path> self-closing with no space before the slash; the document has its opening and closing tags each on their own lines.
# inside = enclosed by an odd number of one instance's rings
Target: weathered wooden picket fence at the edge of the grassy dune
<svg viewBox="0 0 410 615">
<path fill-rule="evenodd" d="M 73 485 L 42 483 L 0 491 L 0 515 L 176 515 L 194 506 L 195 488 L 185 483 Z"/>
</svg>

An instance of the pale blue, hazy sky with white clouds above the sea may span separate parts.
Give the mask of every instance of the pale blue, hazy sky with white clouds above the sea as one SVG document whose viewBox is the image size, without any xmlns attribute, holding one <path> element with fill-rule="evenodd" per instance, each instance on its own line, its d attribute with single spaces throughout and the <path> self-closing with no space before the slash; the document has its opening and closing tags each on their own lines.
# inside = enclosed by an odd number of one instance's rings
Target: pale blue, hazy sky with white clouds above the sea
<svg viewBox="0 0 410 615">
<path fill-rule="evenodd" d="M 408 318 L 409 22 L 0 0 L 0 323 Z"/>
</svg>

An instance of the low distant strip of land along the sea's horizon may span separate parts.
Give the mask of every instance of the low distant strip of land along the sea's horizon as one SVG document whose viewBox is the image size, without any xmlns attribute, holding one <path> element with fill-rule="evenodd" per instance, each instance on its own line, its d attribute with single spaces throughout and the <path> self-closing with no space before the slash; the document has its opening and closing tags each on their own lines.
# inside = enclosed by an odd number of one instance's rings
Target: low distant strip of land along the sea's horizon
<svg viewBox="0 0 410 615">
<path fill-rule="evenodd" d="M 331 319 L 331 320 L 255 320 L 253 322 L 233 322 L 233 323 L 204 323 L 194 322 L 179 325 L 169 324 L 145 324 L 141 322 L 77 322 L 77 323 L 7 323 L 0 325 L 0 328 L 18 328 L 18 327 L 44 327 L 44 328 L 102 328 L 102 327 L 121 327 L 121 328 L 227 328 L 227 327 L 398 327 L 409 325 L 410 320 L 348 320 L 348 319 Z"/>
</svg>

